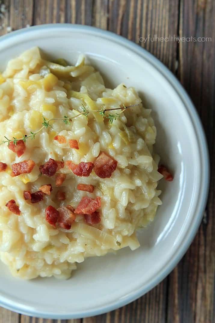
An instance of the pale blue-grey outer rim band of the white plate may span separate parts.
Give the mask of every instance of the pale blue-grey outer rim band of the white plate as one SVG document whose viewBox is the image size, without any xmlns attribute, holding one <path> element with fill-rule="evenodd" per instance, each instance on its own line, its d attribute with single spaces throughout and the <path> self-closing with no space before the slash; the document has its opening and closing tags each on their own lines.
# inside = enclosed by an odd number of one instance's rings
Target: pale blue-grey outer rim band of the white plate
<svg viewBox="0 0 215 323">
<path fill-rule="evenodd" d="M 24 306 L 22 307 L 20 304 L 17 307 L 10 306 L 9 302 L 6 303 L 0 299 L 0 306 L 3 306 L 9 310 L 22 313 L 28 316 L 35 316 L 40 318 L 52 318 L 52 319 L 74 319 L 74 318 L 85 318 L 90 316 L 95 316 L 103 313 L 107 313 L 109 311 L 115 310 L 119 307 L 122 307 L 137 298 L 143 296 L 149 290 L 154 288 L 157 284 L 159 284 L 171 271 L 172 269 L 178 264 L 180 259 L 186 253 L 187 249 L 189 248 L 191 242 L 194 239 L 194 236 L 200 226 L 200 222 L 202 219 L 203 212 L 205 210 L 205 205 L 207 202 L 208 192 L 209 192 L 209 176 L 210 176 L 210 165 L 209 165 L 209 151 L 208 145 L 205 137 L 205 133 L 203 130 L 203 126 L 201 124 L 200 117 L 198 115 L 197 110 L 195 109 L 189 95 L 187 94 L 186 90 L 180 84 L 179 80 L 175 77 L 175 75 L 162 63 L 159 61 L 158 58 L 153 56 L 149 53 L 145 48 L 137 45 L 136 43 L 128 40 L 123 36 L 119 36 L 111 31 L 103 30 L 94 26 L 86 26 L 86 25 L 78 25 L 78 24 L 44 24 L 38 26 L 31 26 L 23 29 L 16 30 L 10 34 L 6 34 L 0 37 L 0 42 L 4 40 L 8 40 L 9 38 L 15 37 L 17 35 L 32 32 L 33 30 L 41 30 L 41 29 L 56 29 L 64 27 L 70 29 L 71 31 L 81 31 L 91 33 L 94 36 L 102 36 L 106 37 L 116 43 L 120 43 L 122 46 L 129 48 L 135 51 L 140 57 L 144 57 L 154 68 L 157 68 L 162 76 L 169 82 L 170 86 L 175 90 L 175 92 L 179 95 L 180 100 L 182 101 L 185 109 L 189 113 L 190 120 L 193 124 L 193 129 L 195 131 L 195 136 L 198 141 L 199 151 L 200 151 L 200 162 L 202 166 L 202 174 L 204 176 L 201 186 L 201 191 L 199 191 L 199 206 L 198 206 L 198 214 L 195 216 L 195 222 L 192 224 L 192 229 L 188 232 L 188 237 L 183 242 L 183 245 L 177 249 L 177 253 L 171 259 L 168 265 L 166 265 L 163 271 L 156 276 L 150 283 L 148 283 L 145 287 L 139 288 L 138 291 L 132 291 L 122 300 L 112 301 L 110 304 L 106 306 L 101 306 L 98 309 L 94 310 L 86 310 L 85 312 L 81 313 L 80 311 L 77 313 L 67 313 L 67 314 L 57 314 L 57 313 L 45 313 L 45 312 L 34 312 L 34 311 L 26 311 Z M 1 297 L 1 292 L 0 292 Z M 9 299 L 8 299 L 9 301 Z"/>
</svg>

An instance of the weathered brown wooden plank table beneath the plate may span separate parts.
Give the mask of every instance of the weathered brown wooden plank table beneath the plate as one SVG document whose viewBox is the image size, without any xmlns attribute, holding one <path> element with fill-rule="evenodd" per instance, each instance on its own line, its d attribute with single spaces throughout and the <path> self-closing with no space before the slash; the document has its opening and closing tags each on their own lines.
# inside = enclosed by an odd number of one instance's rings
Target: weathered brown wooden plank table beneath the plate
<svg viewBox="0 0 215 323">
<path fill-rule="evenodd" d="M 215 163 L 215 1 L 214 0 L 5 0 L 0 18 L 6 34 L 46 23 L 76 23 L 111 30 L 158 57 L 191 96 Z M 9 27 L 9 28 L 7 28 Z M 157 37 L 210 37 L 201 41 L 153 41 Z M 142 40 L 142 39 L 141 39 Z M 188 39 L 187 39 L 188 40 Z M 205 40 L 205 41 L 204 41 Z M 135 302 L 92 318 L 31 318 L 0 308 L 0 323 L 212 323 L 215 322 L 215 172 L 200 229 L 171 274 Z"/>
</svg>

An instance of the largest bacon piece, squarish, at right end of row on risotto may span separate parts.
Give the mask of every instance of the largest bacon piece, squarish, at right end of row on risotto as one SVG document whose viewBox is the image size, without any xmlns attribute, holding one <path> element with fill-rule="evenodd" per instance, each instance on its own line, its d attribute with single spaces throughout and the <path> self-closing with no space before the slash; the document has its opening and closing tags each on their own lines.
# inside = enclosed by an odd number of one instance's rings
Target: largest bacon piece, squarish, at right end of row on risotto
<svg viewBox="0 0 215 323">
<path fill-rule="evenodd" d="M 106 155 L 104 152 L 101 152 L 94 161 L 94 165 L 94 172 L 98 177 L 108 178 L 117 168 L 117 161 Z"/>
</svg>

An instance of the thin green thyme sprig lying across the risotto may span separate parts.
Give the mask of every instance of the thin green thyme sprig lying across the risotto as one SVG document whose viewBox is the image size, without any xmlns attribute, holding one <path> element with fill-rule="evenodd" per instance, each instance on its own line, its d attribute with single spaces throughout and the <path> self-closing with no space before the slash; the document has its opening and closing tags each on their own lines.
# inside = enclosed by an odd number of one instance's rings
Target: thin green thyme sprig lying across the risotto
<svg viewBox="0 0 215 323">
<path fill-rule="evenodd" d="M 112 108 L 112 109 L 104 109 L 104 107 L 102 107 L 100 110 L 87 110 L 86 107 L 82 104 L 81 108 L 83 109 L 83 112 L 80 112 L 78 113 L 76 116 L 74 117 L 71 117 L 69 118 L 67 115 L 64 116 L 64 118 L 51 118 L 51 119 L 48 119 L 46 120 L 44 117 L 43 117 L 43 122 L 42 122 L 42 127 L 37 130 L 36 132 L 33 132 L 33 131 L 30 131 L 30 134 L 29 135 L 23 135 L 22 138 L 16 138 L 16 137 L 13 137 L 13 139 L 8 139 L 6 136 L 4 136 L 4 138 L 6 140 L 3 140 L 2 142 L 0 142 L 0 145 L 3 144 L 3 143 L 9 143 L 12 141 L 15 145 L 17 143 L 18 140 L 22 140 L 24 142 L 26 142 L 26 139 L 28 138 L 31 138 L 32 140 L 35 139 L 35 136 L 40 132 L 42 131 L 44 128 L 47 129 L 47 128 L 53 128 L 52 125 L 50 124 L 51 121 L 63 121 L 65 123 L 65 125 L 67 126 L 70 126 L 70 122 L 72 121 L 72 119 L 74 118 L 77 118 L 81 115 L 84 115 L 87 117 L 87 115 L 89 113 L 94 113 L 94 112 L 98 112 L 102 117 L 108 119 L 108 122 L 110 124 L 113 123 L 114 120 L 117 119 L 117 117 L 120 115 L 120 113 L 122 113 L 123 111 L 125 111 L 125 109 L 128 109 L 128 108 L 131 108 L 131 107 L 136 107 L 138 106 L 139 104 L 133 104 L 133 105 L 129 105 L 129 106 L 125 106 L 123 104 L 123 107 L 119 107 L 119 108 Z M 106 114 L 105 112 L 106 111 L 113 111 L 113 110 L 122 110 L 120 113 L 116 113 L 116 114 Z"/>
</svg>

